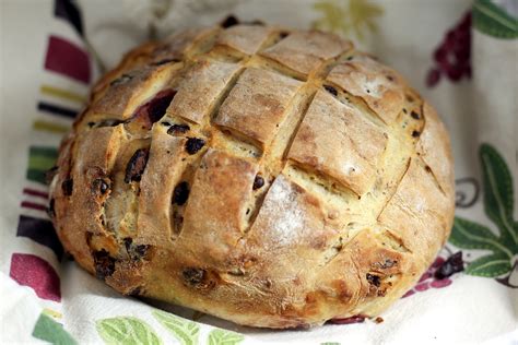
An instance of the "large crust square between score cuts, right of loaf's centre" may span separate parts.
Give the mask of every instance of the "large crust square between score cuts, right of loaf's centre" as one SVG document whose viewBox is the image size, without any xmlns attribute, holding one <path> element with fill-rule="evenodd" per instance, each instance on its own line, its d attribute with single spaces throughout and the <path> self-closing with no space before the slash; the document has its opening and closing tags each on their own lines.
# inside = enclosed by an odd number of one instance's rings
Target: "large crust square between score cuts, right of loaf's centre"
<svg viewBox="0 0 518 345">
<path fill-rule="evenodd" d="M 318 91 L 289 157 L 328 174 L 362 195 L 376 179 L 386 141 L 382 130 L 358 108 Z"/>
</svg>

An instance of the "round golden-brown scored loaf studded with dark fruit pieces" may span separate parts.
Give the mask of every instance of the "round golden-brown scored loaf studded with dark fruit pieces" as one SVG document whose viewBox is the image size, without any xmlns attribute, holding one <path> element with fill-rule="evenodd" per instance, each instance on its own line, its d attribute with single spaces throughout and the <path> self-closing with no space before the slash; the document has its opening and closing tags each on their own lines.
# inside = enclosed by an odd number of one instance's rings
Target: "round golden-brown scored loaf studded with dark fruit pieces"
<svg viewBox="0 0 518 345">
<path fill-rule="evenodd" d="M 377 316 L 454 217 L 448 133 L 400 74 L 252 24 L 129 52 L 50 189 L 66 250 L 116 290 L 261 328 Z"/>
</svg>

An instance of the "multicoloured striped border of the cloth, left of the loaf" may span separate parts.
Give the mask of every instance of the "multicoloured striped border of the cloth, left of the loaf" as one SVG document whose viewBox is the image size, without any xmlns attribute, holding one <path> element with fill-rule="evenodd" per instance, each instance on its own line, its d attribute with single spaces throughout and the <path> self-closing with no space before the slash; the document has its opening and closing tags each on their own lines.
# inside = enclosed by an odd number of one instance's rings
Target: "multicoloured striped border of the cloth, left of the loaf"
<svg viewBox="0 0 518 345">
<path fill-rule="evenodd" d="M 71 32 L 78 34 L 78 40 L 71 41 L 59 33 L 50 33 L 47 49 L 42 57 L 45 74 L 39 86 L 40 99 L 35 109 L 38 116 L 32 123 L 34 133 L 46 133 L 55 136 L 49 142 L 59 142 L 70 129 L 73 118 L 86 100 L 85 90 L 90 86 L 94 70 L 84 43 L 81 13 L 70 0 L 55 0 L 54 15 L 70 24 Z M 54 75 L 59 75 L 55 78 Z M 57 81 L 70 80 L 78 87 L 63 87 Z M 30 239 L 37 246 L 50 249 L 59 262 L 63 248 L 56 235 L 52 223 L 48 219 L 48 188 L 46 171 L 56 164 L 57 145 L 33 144 L 28 150 L 26 186 L 22 190 L 21 211 L 16 228 L 16 237 Z M 30 253 L 28 253 L 30 252 Z M 34 289 L 43 300 L 51 301 L 42 311 L 33 331 L 33 336 L 50 343 L 74 344 L 75 341 L 62 328 L 62 313 L 56 302 L 61 301 L 59 272 L 36 252 L 27 248 L 27 252 L 13 252 L 11 255 L 10 276 L 20 285 Z M 54 260 L 52 260 L 54 261 Z"/>
</svg>

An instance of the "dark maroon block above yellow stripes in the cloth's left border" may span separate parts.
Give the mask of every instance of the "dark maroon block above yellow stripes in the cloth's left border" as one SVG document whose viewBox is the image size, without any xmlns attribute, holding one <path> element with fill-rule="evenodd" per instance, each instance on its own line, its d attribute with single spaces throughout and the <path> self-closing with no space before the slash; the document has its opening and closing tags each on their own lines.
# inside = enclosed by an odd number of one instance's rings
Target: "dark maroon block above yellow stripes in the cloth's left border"
<svg viewBox="0 0 518 345">
<path fill-rule="evenodd" d="M 45 69 L 64 74 L 85 84 L 90 83 L 91 73 L 87 52 L 61 37 L 49 37 Z"/>
</svg>

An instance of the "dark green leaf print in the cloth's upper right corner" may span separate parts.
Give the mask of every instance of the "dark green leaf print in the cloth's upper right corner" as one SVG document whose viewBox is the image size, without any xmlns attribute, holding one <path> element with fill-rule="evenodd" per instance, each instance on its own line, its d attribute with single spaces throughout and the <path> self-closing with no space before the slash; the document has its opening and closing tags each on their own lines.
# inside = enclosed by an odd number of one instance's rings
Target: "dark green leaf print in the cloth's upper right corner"
<svg viewBox="0 0 518 345">
<path fill-rule="evenodd" d="M 473 3 L 473 26 L 486 35 L 513 39 L 518 37 L 518 20 L 490 0 Z"/>
</svg>

